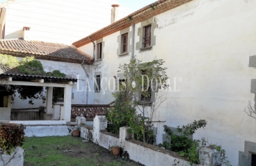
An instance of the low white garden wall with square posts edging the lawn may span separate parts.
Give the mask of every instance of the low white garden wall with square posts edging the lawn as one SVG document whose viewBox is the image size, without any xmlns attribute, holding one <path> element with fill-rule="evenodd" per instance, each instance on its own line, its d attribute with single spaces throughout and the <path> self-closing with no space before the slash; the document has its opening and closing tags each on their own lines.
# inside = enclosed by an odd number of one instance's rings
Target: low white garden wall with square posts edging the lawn
<svg viewBox="0 0 256 166">
<path fill-rule="evenodd" d="M 120 127 L 119 136 L 106 132 L 107 120 L 104 115 L 95 116 L 93 128 L 84 124 L 79 125 L 81 126 L 82 138 L 93 140 L 93 142 L 106 149 L 113 146 L 122 147 L 123 151 L 127 151 L 131 160 L 143 165 L 190 165 L 186 158 L 182 158 L 173 151 L 133 140 L 131 135 L 127 132 L 127 127 Z M 221 153 L 216 149 L 204 147 L 200 149 L 199 154 L 200 165 L 221 165 Z M 193 166 L 200 165 L 193 164 Z"/>
</svg>

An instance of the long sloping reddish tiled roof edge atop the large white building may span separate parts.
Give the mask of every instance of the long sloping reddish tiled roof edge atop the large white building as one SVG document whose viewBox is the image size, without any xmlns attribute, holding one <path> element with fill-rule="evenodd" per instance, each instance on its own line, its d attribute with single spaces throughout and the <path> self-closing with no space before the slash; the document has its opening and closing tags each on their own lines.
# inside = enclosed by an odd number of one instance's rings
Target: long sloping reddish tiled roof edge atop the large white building
<svg viewBox="0 0 256 166">
<path fill-rule="evenodd" d="M 128 28 L 131 24 L 137 24 L 141 21 L 145 21 L 146 19 L 150 19 L 156 15 L 161 14 L 162 12 L 166 12 L 173 8 L 177 8 L 178 6 L 182 6 L 185 3 L 188 3 L 193 0 L 159 0 L 154 3 L 151 3 L 136 12 L 131 13 L 125 18 L 122 18 L 113 24 L 98 30 L 97 32 L 89 35 L 88 37 L 84 37 L 77 42 L 74 42 L 73 45 L 80 47 L 85 44 L 90 43 L 90 40 L 95 41 L 97 39 L 101 39 L 107 35 L 118 32 L 119 30 Z"/>
</svg>

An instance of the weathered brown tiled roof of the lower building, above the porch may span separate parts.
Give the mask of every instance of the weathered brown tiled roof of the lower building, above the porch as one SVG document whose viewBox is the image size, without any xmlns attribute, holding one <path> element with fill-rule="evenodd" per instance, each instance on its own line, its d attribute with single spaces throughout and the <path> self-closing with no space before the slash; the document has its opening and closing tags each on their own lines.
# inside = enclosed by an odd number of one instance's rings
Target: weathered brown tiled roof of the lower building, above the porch
<svg viewBox="0 0 256 166">
<path fill-rule="evenodd" d="M 93 64 L 93 57 L 77 50 L 75 46 L 50 42 L 26 41 L 19 39 L 1 39 L 0 53 L 15 57 L 33 56 L 59 62 Z"/>
</svg>

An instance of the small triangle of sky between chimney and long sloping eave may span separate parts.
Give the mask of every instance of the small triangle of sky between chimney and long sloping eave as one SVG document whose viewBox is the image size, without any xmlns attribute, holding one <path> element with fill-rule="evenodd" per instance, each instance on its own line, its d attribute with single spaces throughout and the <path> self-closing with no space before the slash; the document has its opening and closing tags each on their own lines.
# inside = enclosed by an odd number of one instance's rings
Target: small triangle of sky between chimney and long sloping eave
<svg viewBox="0 0 256 166">
<path fill-rule="evenodd" d="M 129 8 L 130 10 L 136 11 L 157 0 L 117 0 L 117 1 L 119 1 L 123 6 Z"/>
</svg>

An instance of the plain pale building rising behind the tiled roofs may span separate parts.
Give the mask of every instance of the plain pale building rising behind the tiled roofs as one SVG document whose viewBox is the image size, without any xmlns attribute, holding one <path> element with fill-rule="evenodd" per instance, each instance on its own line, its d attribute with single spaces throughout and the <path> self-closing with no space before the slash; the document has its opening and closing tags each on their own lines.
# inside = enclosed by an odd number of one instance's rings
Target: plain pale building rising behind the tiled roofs
<svg viewBox="0 0 256 166">
<path fill-rule="evenodd" d="M 111 24 L 111 5 L 115 0 L 6 0 L 0 3 L 0 39 L 27 39 L 72 44 L 83 36 Z M 119 6 L 115 19 L 131 10 Z"/>
</svg>

